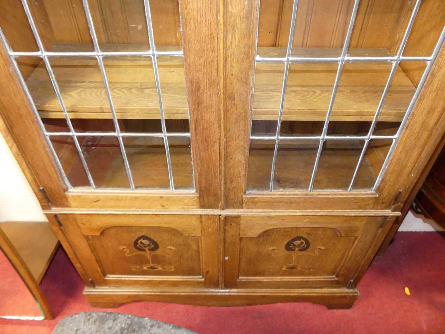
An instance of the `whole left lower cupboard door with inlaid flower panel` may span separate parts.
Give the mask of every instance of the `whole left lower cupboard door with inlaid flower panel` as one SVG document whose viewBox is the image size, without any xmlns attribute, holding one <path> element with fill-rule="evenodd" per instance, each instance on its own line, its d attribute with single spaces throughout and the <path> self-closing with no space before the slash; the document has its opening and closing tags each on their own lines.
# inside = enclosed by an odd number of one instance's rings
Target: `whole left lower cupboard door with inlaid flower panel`
<svg viewBox="0 0 445 334">
<path fill-rule="evenodd" d="M 218 216 L 58 216 L 95 285 L 218 287 Z"/>
</svg>

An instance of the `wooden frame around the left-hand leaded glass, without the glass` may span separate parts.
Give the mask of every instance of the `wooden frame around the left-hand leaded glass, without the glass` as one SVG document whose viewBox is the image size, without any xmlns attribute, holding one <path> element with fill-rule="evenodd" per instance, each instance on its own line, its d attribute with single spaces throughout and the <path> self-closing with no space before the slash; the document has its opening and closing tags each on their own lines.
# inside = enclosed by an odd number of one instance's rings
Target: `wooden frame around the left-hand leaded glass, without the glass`
<svg viewBox="0 0 445 334">
<path fill-rule="evenodd" d="M 194 191 L 68 190 L 32 112 L 9 56 L 0 46 L 0 116 L 33 172 L 44 209 L 219 209 L 218 3 L 180 0 L 190 110 Z M 197 43 L 197 41 L 199 41 Z M 26 175 L 32 183 L 33 177 Z M 42 188 L 48 204 L 37 191 Z M 44 196 L 44 197 L 45 197 Z"/>
</svg>

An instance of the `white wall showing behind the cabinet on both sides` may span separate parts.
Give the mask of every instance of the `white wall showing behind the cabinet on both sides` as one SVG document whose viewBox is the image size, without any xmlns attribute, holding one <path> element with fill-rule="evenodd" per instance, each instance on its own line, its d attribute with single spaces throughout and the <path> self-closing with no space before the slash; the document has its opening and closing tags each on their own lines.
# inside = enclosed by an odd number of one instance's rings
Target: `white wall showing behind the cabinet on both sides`
<svg viewBox="0 0 445 334">
<path fill-rule="evenodd" d="M 46 221 L 28 181 L 0 134 L 0 222 Z M 409 212 L 399 231 L 443 231 L 432 220 Z"/>
</svg>

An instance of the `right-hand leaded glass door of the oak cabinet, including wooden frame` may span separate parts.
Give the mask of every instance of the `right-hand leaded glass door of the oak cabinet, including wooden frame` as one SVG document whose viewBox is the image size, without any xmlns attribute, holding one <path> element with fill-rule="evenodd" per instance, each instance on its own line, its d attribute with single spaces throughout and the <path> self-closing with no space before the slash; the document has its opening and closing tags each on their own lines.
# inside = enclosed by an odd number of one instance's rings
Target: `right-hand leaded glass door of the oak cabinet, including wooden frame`
<svg viewBox="0 0 445 334">
<path fill-rule="evenodd" d="M 406 124 L 425 112 L 417 106 L 445 37 L 443 5 L 275 0 L 236 14 L 229 3 L 241 26 L 226 42 L 226 65 L 238 62 L 240 74 L 226 70 L 227 87 L 238 90 L 226 124 L 239 114 L 246 121 L 234 126 L 242 139 L 227 131 L 241 168 L 226 185 L 228 206 L 390 208 L 405 187 L 388 189 L 391 161 L 403 163 Z"/>
</svg>

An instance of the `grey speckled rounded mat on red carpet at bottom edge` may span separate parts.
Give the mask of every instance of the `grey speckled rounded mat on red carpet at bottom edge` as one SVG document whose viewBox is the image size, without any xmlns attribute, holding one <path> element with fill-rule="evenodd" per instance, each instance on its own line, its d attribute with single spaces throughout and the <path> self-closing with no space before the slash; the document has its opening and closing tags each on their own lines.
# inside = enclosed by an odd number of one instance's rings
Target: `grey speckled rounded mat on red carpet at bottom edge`
<svg viewBox="0 0 445 334">
<path fill-rule="evenodd" d="M 53 334 L 192 334 L 183 327 L 150 318 L 111 312 L 82 312 L 61 319 Z"/>
</svg>

